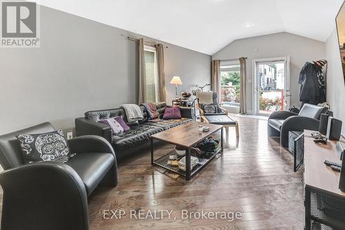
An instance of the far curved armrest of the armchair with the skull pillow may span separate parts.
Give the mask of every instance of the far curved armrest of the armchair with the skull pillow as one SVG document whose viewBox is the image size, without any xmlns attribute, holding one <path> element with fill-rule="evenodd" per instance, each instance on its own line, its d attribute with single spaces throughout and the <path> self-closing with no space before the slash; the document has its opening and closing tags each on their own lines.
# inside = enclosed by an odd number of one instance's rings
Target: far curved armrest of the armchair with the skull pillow
<svg viewBox="0 0 345 230">
<path fill-rule="evenodd" d="M 114 148 L 103 137 L 85 135 L 72 138 L 67 140 L 67 142 L 72 153 L 112 153 L 115 157 Z"/>
</svg>

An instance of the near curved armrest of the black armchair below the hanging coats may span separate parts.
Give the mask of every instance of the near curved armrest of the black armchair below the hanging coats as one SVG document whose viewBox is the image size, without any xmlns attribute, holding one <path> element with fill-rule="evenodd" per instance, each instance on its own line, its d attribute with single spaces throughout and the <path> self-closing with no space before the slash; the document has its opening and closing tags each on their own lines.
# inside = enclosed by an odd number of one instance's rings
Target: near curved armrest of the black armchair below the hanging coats
<svg viewBox="0 0 345 230">
<path fill-rule="evenodd" d="M 280 145 L 283 147 L 288 146 L 289 131 L 303 132 L 305 129 L 319 131 L 319 120 L 302 116 L 288 117 L 282 124 L 282 129 L 280 131 Z"/>
</svg>

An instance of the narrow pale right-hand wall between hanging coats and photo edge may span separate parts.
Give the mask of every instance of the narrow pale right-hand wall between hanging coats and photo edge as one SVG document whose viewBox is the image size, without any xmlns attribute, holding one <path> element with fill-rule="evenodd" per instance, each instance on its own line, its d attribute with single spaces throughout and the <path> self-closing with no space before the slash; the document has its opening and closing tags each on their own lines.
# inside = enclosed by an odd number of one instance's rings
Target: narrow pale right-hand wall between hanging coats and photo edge
<svg viewBox="0 0 345 230">
<path fill-rule="evenodd" d="M 327 101 L 331 105 L 331 111 L 333 111 L 334 117 L 342 120 L 342 135 L 345 135 L 345 86 L 337 30 L 333 30 L 326 41 L 326 59 L 328 61 Z"/>
</svg>

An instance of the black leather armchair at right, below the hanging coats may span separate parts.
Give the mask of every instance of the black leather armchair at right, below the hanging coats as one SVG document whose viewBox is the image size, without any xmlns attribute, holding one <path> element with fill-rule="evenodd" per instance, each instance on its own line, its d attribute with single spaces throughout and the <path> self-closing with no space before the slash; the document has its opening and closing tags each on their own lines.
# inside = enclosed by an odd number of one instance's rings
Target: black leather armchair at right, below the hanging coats
<svg viewBox="0 0 345 230">
<path fill-rule="evenodd" d="M 289 131 L 303 132 L 304 129 L 318 131 L 320 115 L 327 110 L 326 107 L 304 104 L 298 114 L 289 111 L 273 112 L 268 117 L 268 136 L 280 137 L 280 145 L 287 147 Z"/>
</svg>

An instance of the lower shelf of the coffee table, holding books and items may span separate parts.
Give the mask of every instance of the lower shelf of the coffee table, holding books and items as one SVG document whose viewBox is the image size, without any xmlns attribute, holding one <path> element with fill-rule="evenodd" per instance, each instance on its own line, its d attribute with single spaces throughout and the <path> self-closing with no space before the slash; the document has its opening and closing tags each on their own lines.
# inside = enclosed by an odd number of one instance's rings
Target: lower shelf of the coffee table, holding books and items
<svg viewBox="0 0 345 230">
<path fill-rule="evenodd" d="M 196 175 L 202 168 L 204 168 L 204 166 L 206 166 L 211 160 L 213 160 L 213 158 L 215 158 L 217 154 L 220 154 L 220 153 L 221 153 L 221 147 L 219 146 L 215 150 L 215 152 L 212 155 L 210 155 L 209 158 L 206 159 L 206 158 L 198 157 L 199 160 L 200 159 L 203 160 L 203 163 L 197 164 L 196 166 L 194 166 L 194 168 L 190 171 L 190 178 L 192 178 L 194 175 Z M 168 165 L 168 160 L 170 160 L 169 159 L 170 155 L 176 155 L 175 151 L 170 151 L 170 153 L 167 153 L 166 155 L 159 157 L 157 160 L 154 160 L 152 162 L 152 165 L 159 166 L 159 167 L 164 168 L 164 169 L 171 171 L 173 173 L 177 173 L 181 176 L 184 176 L 188 180 L 188 177 L 186 175 L 186 171 L 182 171 L 181 169 L 179 169 L 178 166 Z M 177 157 L 178 157 L 178 159 L 182 158 L 179 156 L 177 156 Z"/>
</svg>

